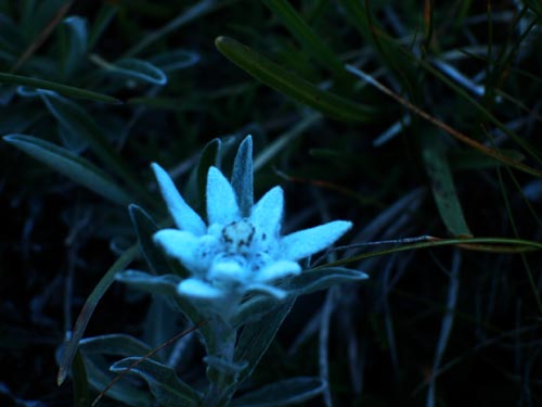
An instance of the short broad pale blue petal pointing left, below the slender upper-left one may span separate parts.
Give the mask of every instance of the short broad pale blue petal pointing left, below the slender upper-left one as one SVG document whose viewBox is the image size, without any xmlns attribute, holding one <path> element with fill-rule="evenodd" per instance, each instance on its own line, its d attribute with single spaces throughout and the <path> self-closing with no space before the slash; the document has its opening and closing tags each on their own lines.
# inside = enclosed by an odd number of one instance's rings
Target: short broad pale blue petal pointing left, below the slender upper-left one
<svg viewBox="0 0 542 407">
<path fill-rule="evenodd" d="M 164 229 L 154 233 L 153 240 L 164 247 L 169 256 L 178 258 L 190 271 L 201 271 L 199 239 L 194 234 L 184 230 Z"/>
</svg>

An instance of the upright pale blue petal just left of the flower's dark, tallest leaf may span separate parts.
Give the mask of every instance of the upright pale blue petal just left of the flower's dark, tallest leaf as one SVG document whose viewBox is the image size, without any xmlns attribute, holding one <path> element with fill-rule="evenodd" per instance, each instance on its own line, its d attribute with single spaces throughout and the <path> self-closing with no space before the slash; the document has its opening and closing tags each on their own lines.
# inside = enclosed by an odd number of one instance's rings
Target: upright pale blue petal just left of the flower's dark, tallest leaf
<svg viewBox="0 0 542 407">
<path fill-rule="evenodd" d="M 228 179 L 216 167 L 207 174 L 207 220 L 212 224 L 227 225 L 240 219 L 240 209 L 235 192 Z"/>
</svg>

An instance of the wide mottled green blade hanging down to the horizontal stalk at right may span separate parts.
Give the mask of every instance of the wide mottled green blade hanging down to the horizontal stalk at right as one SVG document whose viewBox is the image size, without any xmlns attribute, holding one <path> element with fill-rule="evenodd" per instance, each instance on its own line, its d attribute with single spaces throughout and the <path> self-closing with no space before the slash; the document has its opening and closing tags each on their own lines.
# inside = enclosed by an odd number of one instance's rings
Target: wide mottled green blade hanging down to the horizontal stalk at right
<svg viewBox="0 0 542 407">
<path fill-rule="evenodd" d="M 435 131 L 426 128 L 425 131 L 422 131 L 421 142 L 425 168 L 431 181 L 433 196 L 440 218 L 452 236 L 472 236 L 463 216 L 452 171 L 448 164 L 444 140 Z"/>
</svg>

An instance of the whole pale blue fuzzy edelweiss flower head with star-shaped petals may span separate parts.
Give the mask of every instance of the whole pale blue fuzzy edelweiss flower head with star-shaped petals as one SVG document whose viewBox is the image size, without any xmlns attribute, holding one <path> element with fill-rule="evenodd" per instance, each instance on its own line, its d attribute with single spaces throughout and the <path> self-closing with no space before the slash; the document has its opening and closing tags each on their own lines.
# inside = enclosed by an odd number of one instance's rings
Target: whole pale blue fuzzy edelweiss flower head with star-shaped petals
<svg viewBox="0 0 542 407">
<path fill-rule="evenodd" d="M 236 178 L 246 185 L 238 187 L 235 174 L 230 183 L 218 168 L 208 170 L 207 224 L 185 203 L 168 174 L 152 165 L 178 228 L 156 232 L 154 241 L 192 274 L 179 283 L 181 295 L 216 304 L 238 302 L 248 292 L 283 298 L 286 293 L 274 283 L 299 275 L 298 260 L 327 247 L 351 228 L 351 222 L 336 220 L 282 237 L 283 190 L 275 187 L 253 204 L 251 138 L 243 144 L 234 173 L 250 171 Z M 240 191 L 245 195 L 240 196 Z"/>
</svg>

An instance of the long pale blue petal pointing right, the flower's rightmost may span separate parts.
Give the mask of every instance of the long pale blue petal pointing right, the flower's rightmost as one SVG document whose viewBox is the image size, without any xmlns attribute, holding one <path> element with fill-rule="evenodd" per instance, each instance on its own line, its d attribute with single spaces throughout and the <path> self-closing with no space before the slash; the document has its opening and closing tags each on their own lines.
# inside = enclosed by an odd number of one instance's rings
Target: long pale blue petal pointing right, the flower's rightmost
<svg viewBox="0 0 542 407">
<path fill-rule="evenodd" d="M 332 245 L 352 227 L 352 222 L 335 220 L 300 230 L 281 240 L 281 257 L 298 260 Z"/>
</svg>

